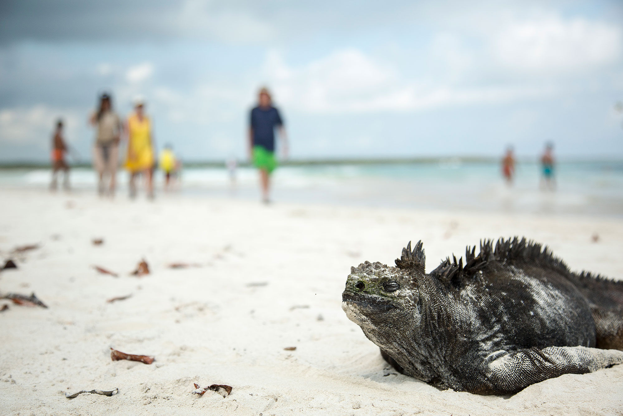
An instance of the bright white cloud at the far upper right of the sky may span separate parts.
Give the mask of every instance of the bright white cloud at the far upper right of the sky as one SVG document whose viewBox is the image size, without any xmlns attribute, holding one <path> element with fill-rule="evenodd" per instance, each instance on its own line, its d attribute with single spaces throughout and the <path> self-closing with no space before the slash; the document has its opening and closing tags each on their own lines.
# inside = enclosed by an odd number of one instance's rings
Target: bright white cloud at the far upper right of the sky
<svg viewBox="0 0 623 416">
<path fill-rule="evenodd" d="M 550 16 L 510 24 L 493 47 L 508 68 L 566 72 L 616 60 L 621 31 L 604 22 Z"/>
</svg>

